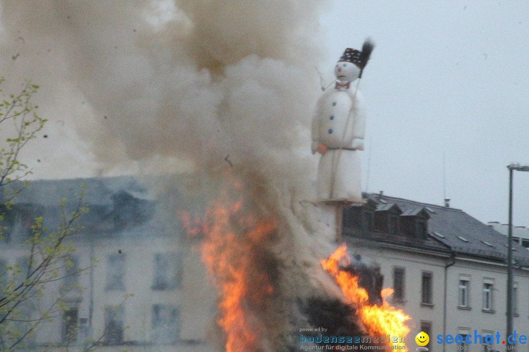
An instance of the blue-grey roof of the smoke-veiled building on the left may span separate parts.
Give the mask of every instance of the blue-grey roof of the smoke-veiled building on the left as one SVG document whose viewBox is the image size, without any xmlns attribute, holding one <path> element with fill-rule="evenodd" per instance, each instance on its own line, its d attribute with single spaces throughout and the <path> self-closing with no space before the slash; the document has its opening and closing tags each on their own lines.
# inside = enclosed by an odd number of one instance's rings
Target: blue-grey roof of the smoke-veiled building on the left
<svg viewBox="0 0 529 352">
<path fill-rule="evenodd" d="M 15 190 L 22 187 L 22 183 L 13 182 L 2 188 Z M 76 235 L 76 239 L 135 236 L 147 230 L 154 234 L 162 233 L 164 225 L 157 214 L 158 197 L 152 187 L 142 183 L 138 177 L 33 180 L 29 186 L 23 187 L 12 207 L 2 209 L 6 241 L 16 244 L 25 240 L 26 227 L 37 216 L 43 217 L 44 226 L 48 229 L 57 229 L 62 200 L 66 199 L 65 213 L 69 214 L 78 206 L 81 192 L 86 195 L 83 202 L 89 211 L 77 222 L 83 230 Z"/>
</svg>

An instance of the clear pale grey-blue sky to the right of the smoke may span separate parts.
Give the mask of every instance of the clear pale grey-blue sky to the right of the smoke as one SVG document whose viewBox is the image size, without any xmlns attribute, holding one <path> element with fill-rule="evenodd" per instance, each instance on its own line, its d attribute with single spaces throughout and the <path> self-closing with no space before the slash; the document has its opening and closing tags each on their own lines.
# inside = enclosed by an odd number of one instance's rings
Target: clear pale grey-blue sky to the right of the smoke
<svg viewBox="0 0 529 352">
<path fill-rule="evenodd" d="M 322 16 L 327 81 L 345 47 L 377 46 L 366 98 L 364 189 L 507 222 L 508 171 L 529 164 L 529 2 L 333 1 Z M 369 161 L 368 161 L 369 160 Z M 514 175 L 529 226 L 529 173 Z"/>
</svg>

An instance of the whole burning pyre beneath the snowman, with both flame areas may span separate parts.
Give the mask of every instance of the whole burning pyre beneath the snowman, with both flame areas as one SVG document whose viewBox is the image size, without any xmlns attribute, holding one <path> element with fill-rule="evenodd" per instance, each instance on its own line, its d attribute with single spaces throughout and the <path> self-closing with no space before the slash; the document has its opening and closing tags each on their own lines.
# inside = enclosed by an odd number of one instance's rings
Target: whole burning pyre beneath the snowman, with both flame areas
<svg viewBox="0 0 529 352">
<path fill-rule="evenodd" d="M 297 350 L 300 328 L 311 326 L 326 327 L 328 335 L 405 337 L 409 317 L 384 299 L 392 290 L 380 291 L 378 270 L 366 280 L 366 271 L 358 270 L 344 245 L 321 260 L 319 268 L 338 284 L 341 297 L 308 282 L 308 289 L 300 287 L 296 292 L 300 283 L 292 284 L 291 278 L 299 268 L 289 264 L 296 259 L 288 258 L 292 252 L 284 248 L 287 225 L 267 205 L 262 191 L 232 178 L 209 203 L 203 218 L 180 213 L 187 233 L 200 239 L 202 261 L 217 289 L 220 350 Z M 370 280 L 373 284 L 366 284 Z M 385 344 L 404 346 L 402 340 Z"/>
</svg>

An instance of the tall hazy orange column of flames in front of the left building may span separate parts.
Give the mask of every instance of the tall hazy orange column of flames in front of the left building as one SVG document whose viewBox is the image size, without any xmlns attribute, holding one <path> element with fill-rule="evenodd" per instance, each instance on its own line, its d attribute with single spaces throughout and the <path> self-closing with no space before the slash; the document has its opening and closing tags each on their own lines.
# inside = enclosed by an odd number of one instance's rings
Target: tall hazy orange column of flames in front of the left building
<svg viewBox="0 0 529 352">
<path fill-rule="evenodd" d="M 274 292 L 262 245 L 275 236 L 276 222 L 252 213 L 253 204 L 242 196 L 249 193 L 244 187 L 231 183 L 229 191 L 221 191 L 202 221 L 179 214 L 188 234 L 203 236 L 200 254 L 218 291 L 217 324 L 226 352 L 263 350 L 266 323 L 257 317 Z"/>
</svg>

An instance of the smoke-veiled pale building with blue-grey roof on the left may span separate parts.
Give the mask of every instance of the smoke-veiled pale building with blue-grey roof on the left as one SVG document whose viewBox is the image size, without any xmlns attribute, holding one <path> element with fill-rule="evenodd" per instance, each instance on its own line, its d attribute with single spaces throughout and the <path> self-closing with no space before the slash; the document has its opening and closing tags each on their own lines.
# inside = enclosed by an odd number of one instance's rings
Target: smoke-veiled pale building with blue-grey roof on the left
<svg viewBox="0 0 529 352">
<path fill-rule="evenodd" d="M 57 297 L 66 308 L 43 321 L 25 347 L 82 350 L 97 340 L 98 350 L 108 351 L 211 350 L 206 334 L 215 325 L 215 291 L 178 216 L 164 211 L 174 208 L 169 203 L 176 193 L 155 195 L 133 177 L 33 182 L 5 214 L 4 268 L 20 264 L 25 271 L 28 250 L 21 245 L 34 217 L 42 215 L 46 227 L 56 228 L 61 199 L 72 211 L 81 184 L 89 212 L 79 220 L 83 229 L 68 240 L 75 251 L 58 265 L 61 279 L 30 300 L 22 318 L 39 317 Z"/>
</svg>

